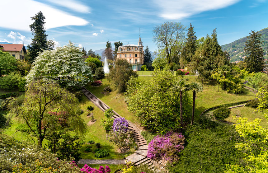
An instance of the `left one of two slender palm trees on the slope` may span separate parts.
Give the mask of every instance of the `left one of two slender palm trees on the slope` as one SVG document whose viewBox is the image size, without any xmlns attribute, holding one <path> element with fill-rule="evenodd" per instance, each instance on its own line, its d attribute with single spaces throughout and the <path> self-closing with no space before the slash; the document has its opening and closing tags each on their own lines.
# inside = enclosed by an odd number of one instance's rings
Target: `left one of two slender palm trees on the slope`
<svg viewBox="0 0 268 173">
<path fill-rule="evenodd" d="M 190 85 L 186 84 L 185 80 L 175 81 L 173 89 L 180 91 L 180 113 L 181 113 L 181 126 L 182 126 L 182 92 L 190 89 Z"/>
</svg>

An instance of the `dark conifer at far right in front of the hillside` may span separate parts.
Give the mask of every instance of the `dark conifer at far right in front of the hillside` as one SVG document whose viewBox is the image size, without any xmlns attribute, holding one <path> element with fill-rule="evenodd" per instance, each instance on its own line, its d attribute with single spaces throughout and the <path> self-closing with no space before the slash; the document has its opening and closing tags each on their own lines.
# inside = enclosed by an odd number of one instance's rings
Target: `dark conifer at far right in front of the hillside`
<svg viewBox="0 0 268 173">
<path fill-rule="evenodd" d="M 258 32 L 251 31 L 250 35 L 247 36 L 244 51 L 248 54 L 245 58 L 245 62 L 250 72 L 260 72 L 263 68 L 264 60 L 262 57 L 264 53 L 261 48 L 261 43 L 261 34 L 258 34 Z"/>
</svg>

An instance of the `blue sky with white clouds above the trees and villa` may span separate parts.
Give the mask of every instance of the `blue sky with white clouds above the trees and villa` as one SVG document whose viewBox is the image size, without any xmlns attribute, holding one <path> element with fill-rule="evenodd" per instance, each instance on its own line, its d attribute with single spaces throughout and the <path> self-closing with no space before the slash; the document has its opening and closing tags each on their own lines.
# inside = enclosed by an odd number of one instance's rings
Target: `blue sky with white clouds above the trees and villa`
<svg viewBox="0 0 268 173">
<path fill-rule="evenodd" d="M 166 21 L 194 26 L 197 38 L 217 28 L 220 45 L 268 27 L 268 0 L 0 0 L 0 42 L 31 43 L 31 17 L 42 11 L 46 34 L 55 46 L 71 40 L 86 50 L 110 40 L 157 50 L 153 28 Z M 187 30 L 186 30 L 187 33 Z"/>
</svg>

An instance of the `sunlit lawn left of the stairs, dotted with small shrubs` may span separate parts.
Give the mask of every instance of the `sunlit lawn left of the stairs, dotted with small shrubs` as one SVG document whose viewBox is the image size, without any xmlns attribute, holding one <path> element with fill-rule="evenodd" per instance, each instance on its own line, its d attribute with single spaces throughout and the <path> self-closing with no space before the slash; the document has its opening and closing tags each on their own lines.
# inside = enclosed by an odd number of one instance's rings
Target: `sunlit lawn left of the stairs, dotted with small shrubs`
<svg viewBox="0 0 268 173">
<path fill-rule="evenodd" d="M 82 159 L 123 159 L 125 156 L 128 156 L 134 152 L 134 149 L 131 149 L 130 152 L 125 154 L 117 152 L 118 147 L 106 140 L 107 133 L 100 125 L 101 118 L 104 118 L 104 112 L 96 107 L 91 101 L 89 101 L 86 96 L 82 96 L 82 100 L 79 102 L 79 104 L 80 108 L 84 110 L 84 113 L 81 115 L 81 117 L 85 120 L 86 124 L 90 121 L 90 118 L 87 117 L 88 113 L 93 113 L 93 116 L 96 119 L 96 122 L 94 124 L 88 125 L 88 133 L 85 136 L 85 141 L 88 142 L 89 140 L 94 140 L 95 143 L 101 143 L 101 149 L 107 149 L 110 153 L 110 155 L 107 157 L 96 158 L 94 157 L 93 152 L 84 152 L 86 147 L 89 146 L 89 144 L 84 144 L 80 150 Z M 94 110 L 88 112 L 86 108 L 88 105 L 92 105 L 94 107 Z M 94 149 L 96 149 L 96 145 L 90 145 L 92 146 L 92 151 L 94 151 Z"/>
</svg>

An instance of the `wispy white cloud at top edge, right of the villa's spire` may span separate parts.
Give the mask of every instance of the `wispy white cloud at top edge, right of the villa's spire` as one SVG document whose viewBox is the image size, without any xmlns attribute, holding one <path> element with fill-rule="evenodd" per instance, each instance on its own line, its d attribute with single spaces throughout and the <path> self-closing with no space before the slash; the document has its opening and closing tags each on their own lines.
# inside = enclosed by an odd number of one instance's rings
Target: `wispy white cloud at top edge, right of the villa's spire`
<svg viewBox="0 0 268 173">
<path fill-rule="evenodd" d="M 167 20 L 183 19 L 204 11 L 216 10 L 237 3 L 240 0 L 153 0 L 160 8 L 159 16 Z"/>
</svg>

